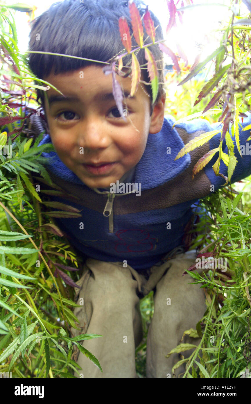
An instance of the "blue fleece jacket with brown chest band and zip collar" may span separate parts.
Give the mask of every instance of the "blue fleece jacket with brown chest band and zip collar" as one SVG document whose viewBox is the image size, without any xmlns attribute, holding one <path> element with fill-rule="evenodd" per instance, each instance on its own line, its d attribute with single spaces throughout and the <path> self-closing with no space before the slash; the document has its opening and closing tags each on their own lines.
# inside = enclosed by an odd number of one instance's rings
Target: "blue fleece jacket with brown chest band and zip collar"
<svg viewBox="0 0 251 404">
<path fill-rule="evenodd" d="M 243 127 L 250 121 L 251 118 L 247 118 Z M 113 262 L 126 260 L 134 269 L 151 267 L 182 244 L 184 227 L 192 216 L 192 205 L 224 185 L 224 178 L 215 176 L 212 169 L 218 152 L 192 180 L 195 163 L 219 146 L 219 124 L 211 126 L 206 120 L 196 119 L 172 129 L 174 122 L 171 116 L 165 116 L 161 131 L 149 134 L 144 154 L 135 166 L 133 181 L 132 175 L 130 178 L 131 182 L 141 184 L 141 195 L 138 196 L 133 192 L 111 194 L 90 189 L 55 152 L 42 154 L 48 158 L 46 168 L 58 189 L 57 195 L 47 192 L 48 187 L 44 193 L 50 194 L 52 201 L 80 210 L 79 217 L 56 218 L 55 221 L 71 243 L 88 257 Z M 174 160 L 184 144 L 216 128 L 219 128 L 219 134 L 209 142 Z M 246 151 L 248 137 L 249 130 L 242 131 L 240 125 L 240 144 L 245 145 Z M 51 143 L 49 135 L 40 145 L 44 143 Z M 251 141 L 249 144 L 251 149 Z M 227 152 L 225 141 L 223 150 Z M 238 162 L 232 183 L 251 174 L 251 150 L 250 155 L 245 153 L 241 157 L 235 146 L 234 153 Z M 227 176 L 223 162 L 220 173 Z"/>
</svg>

